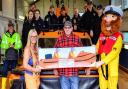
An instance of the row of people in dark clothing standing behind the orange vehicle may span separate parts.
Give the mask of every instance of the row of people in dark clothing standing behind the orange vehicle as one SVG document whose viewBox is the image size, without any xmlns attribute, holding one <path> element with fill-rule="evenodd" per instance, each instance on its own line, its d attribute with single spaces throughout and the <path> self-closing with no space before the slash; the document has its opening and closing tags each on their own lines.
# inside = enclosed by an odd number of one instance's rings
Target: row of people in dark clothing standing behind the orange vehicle
<svg viewBox="0 0 128 89">
<path fill-rule="evenodd" d="M 87 32 L 93 44 L 96 44 L 100 34 L 100 23 L 103 12 L 102 5 L 93 6 L 92 1 L 85 3 L 84 13 L 82 16 L 79 14 L 78 8 L 74 8 L 73 17 L 71 18 L 67 13 L 67 8 L 61 7 L 60 16 L 55 14 L 53 5 L 49 7 L 48 14 L 41 18 L 40 10 L 33 4 L 28 15 L 25 17 L 22 29 L 22 43 L 23 48 L 26 45 L 27 35 L 31 28 L 35 28 L 37 33 L 41 31 L 56 31 L 63 29 L 65 21 L 71 21 L 73 24 L 73 31 Z"/>
</svg>

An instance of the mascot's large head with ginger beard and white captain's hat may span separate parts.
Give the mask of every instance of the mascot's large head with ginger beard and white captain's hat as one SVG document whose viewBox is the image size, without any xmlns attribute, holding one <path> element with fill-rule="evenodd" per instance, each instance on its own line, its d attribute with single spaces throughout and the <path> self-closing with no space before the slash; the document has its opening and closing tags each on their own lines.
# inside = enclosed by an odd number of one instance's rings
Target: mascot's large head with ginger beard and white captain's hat
<svg viewBox="0 0 128 89">
<path fill-rule="evenodd" d="M 122 24 L 123 11 L 116 6 L 107 6 L 101 22 L 101 31 L 106 36 L 111 36 L 119 31 Z"/>
</svg>

